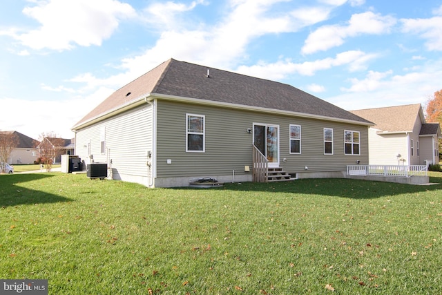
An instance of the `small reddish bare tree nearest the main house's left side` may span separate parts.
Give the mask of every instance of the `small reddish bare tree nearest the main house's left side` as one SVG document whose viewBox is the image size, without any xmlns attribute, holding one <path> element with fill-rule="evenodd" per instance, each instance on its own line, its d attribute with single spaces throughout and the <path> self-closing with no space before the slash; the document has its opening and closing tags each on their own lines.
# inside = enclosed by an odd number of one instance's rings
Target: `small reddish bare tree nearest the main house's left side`
<svg viewBox="0 0 442 295">
<path fill-rule="evenodd" d="M 61 155 L 64 148 L 64 139 L 57 137 L 55 133 L 41 133 L 39 155 L 46 171 L 52 169 L 55 158 Z"/>
</svg>

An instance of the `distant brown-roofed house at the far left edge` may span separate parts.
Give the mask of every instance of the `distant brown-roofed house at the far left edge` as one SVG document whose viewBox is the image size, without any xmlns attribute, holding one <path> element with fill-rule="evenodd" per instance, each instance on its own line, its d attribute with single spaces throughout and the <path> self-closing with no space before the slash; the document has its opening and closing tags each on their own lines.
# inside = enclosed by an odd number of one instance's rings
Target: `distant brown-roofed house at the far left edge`
<svg viewBox="0 0 442 295">
<path fill-rule="evenodd" d="M 12 133 L 16 135 L 18 144 L 17 147 L 12 149 L 10 157 L 8 158 L 8 164 L 33 164 L 38 158 L 37 145 L 38 140 L 34 140 L 29 136 L 26 136 L 17 131 L 0 131 L 0 133 Z"/>
</svg>

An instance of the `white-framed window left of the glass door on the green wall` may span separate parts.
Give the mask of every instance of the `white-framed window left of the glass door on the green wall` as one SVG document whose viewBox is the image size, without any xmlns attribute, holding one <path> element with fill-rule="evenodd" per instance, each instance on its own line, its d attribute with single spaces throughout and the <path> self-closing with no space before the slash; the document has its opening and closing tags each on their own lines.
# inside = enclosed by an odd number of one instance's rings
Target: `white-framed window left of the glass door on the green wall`
<svg viewBox="0 0 442 295">
<path fill-rule="evenodd" d="M 186 116 L 186 151 L 204 152 L 204 116 Z"/>
</svg>

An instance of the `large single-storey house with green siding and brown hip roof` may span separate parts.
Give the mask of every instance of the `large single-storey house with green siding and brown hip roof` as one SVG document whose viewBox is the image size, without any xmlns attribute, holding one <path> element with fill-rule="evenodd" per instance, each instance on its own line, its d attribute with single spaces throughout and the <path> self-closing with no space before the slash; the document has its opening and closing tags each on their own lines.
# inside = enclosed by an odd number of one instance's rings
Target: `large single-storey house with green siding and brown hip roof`
<svg viewBox="0 0 442 295">
<path fill-rule="evenodd" d="M 262 162 L 288 179 L 343 177 L 347 164 L 368 164 L 371 125 L 287 84 L 169 59 L 73 131 L 76 155 L 107 163 L 113 179 L 179 187 L 251 181 Z"/>
</svg>

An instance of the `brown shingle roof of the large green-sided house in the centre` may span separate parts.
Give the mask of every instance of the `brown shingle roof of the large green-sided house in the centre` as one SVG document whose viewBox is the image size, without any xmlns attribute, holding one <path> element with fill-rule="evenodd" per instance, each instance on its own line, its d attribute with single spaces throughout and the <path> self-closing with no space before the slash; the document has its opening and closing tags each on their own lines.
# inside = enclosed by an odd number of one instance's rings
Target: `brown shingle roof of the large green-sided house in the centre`
<svg viewBox="0 0 442 295">
<path fill-rule="evenodd" d="M 207 73 L 209 73 L 209 77 L 207 77 Z M 75 126 L 80 126 L 130 103 L 131 99 L 140 99 L 149 93 L 371 124 L 362 117 L 288 84 L 169 59 L 133 82 L 119 88 Z"/>
</svg>

